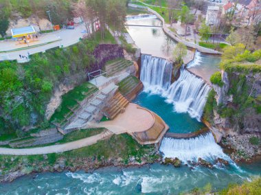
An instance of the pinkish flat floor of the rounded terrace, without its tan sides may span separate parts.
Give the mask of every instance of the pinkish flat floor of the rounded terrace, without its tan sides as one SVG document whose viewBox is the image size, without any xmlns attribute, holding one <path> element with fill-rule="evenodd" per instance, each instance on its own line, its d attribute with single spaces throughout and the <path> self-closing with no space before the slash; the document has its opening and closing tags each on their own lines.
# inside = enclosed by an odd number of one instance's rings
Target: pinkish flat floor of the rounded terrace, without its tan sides
<svg viewBox="0 0 261 195">
<path fill-rule="evenodd" d="M 155 123 L 155 119 L 150 111 L 137 104 L 130 103 L 126 106 L 124 113 L 117 115 L 111 121 L 90 124 L 94 127 L 104 127 L 115 134 L 134 133 L 148 130 Z"/>
</svg>

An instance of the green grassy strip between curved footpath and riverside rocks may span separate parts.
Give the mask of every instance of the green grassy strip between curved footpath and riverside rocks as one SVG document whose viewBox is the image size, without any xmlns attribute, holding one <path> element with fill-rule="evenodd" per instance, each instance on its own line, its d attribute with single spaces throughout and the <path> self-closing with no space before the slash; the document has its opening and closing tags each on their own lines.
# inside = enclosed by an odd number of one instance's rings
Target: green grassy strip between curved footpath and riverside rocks
<svg viewBox="0 0 261 195">
<path fill-rule="evenodd" d="M 122 163 L 128 163 L 130 157 L 135 157 L 137 162 L 142 158 L 152 163 L 158 158 L 154 152 L 154 146 L 141 146 L 130 135 L 113 135 L 110 139 L 98 141 L 98 143 L 77 150 L 63 153 L 47 154 L 48 159 L 43 155 L 12 156 L 0 155 L 0 167 L 2 176 L 10 171 L 23 170 L 25 173 L 39 171 L 47 166 L 52 166 L 58 159 L 65 159 L 66 165 L 80 167 L 89 160 L 94 163 L 102 163 L 103 160 L 122 159 Z M 0 175 L 1 176 L 1 175 Z"/>
</svg>

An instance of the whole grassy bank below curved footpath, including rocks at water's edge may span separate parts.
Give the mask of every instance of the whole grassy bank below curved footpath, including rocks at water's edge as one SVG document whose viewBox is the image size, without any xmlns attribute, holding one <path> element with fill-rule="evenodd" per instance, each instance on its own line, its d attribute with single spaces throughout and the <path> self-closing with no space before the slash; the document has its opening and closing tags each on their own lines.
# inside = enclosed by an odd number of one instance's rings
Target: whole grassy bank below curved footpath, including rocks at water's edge
<svg viewBox="0 0 261 195">
<path fill-rule="evenodd" d="M 0 156 L 0 182 L 33 172 L 90 170 L 108 165 L 129 166 L 161 160 L 155 146 L 141 146 L 130 135 L 113 135 L 96 144 L 68 152 Z"/>
</svg>

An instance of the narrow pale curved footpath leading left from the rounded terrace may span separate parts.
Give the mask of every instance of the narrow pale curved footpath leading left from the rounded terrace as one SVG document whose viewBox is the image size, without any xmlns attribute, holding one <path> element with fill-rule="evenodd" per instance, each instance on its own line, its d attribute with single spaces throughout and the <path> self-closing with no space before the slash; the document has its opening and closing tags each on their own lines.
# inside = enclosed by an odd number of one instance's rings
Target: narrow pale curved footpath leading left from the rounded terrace
<svg viewBox="0 0 261 195">
<path fill-rule="evenodd" d="M 25 148 L 25 149 L 12 149 L 12 148 L 0 148 L 0 154 L 10 154 L 10 155 L 32 155 L 32 154 L 51 154 L 58 152 L 66 152 L 69 150 L 75 150 L 78 148 L 83 148 L 85 146 L 90 146 L 97 143 L 97 141 L 111 136 L 113 133 L 106 131 L 106 133 L 100 133 L 91 137 L 80 139 L 77 141 L 72 141 L 66 144 L 57 144 L 53 146 L 45 146 L 39 148 Z"/>
</svg>

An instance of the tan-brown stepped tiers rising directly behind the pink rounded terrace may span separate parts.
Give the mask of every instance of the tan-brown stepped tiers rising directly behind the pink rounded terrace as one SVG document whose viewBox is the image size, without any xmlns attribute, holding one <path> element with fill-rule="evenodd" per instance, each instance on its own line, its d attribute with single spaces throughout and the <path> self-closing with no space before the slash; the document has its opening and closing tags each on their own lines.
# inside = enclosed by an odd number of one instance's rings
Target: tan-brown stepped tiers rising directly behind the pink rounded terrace
<svg viewBox="0 0 261 195">
<path fill-rule="evenodd" d="M 108 106 L 104 109 L 104 115 L 110 119 L 114 119 L 118 114 L 122 113 L 128 105 L 128 100 L 124 96 L 117 92 L 114 97 L 108 102 Z"/>
</svg>

